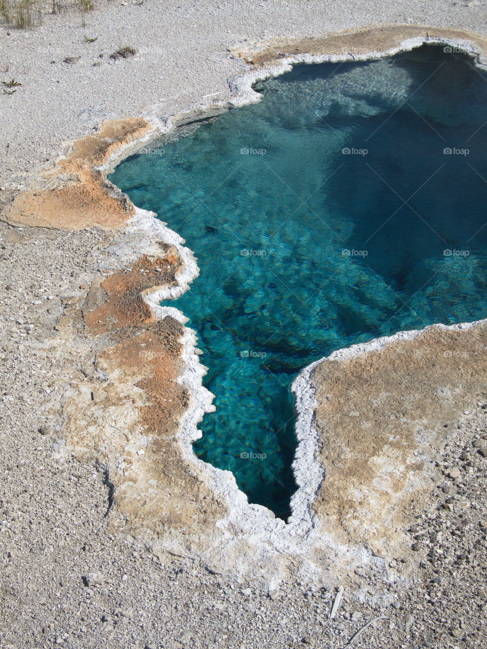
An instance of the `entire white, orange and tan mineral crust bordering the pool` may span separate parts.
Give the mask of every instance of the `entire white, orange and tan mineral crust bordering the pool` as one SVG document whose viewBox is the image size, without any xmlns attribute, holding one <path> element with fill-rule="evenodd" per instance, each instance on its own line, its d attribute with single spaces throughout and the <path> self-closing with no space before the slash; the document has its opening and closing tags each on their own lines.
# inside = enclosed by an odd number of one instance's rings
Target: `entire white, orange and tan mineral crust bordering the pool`
<svg viewBox="0 0 487 649">
<path fill-rule="evenodd" d="M 67 387 L 62 411 L 53 404 L 51 416 L 73 452 L 107 467 L 115 485 L 114 530 L 146 539 L 158 554 L 198 556 L 212 570 L 263 575 L 272 583 L 298 565 L 319 580 L 327 570 L 350 572 L 367 562 L 385 570 L 390 557 L 408 554 L 405 521 L 413 500 L 427 498 L 434 484 L 443 426 L 455 425 L 484 391 L 484 321 L 397 334 L 303 370 L 293 385 L 299 489 L 285 525 L 249 505 L 230 472 L 195 457 L 192 442 L 213 408 L 212 395 L 201 385 L 205 369 L 194 332 L 182 327 L 181 312 L 158 303 L 186 290 L 197 265 L 177 234 L 137 210 L 104 173 L 143 141 L 259 101 L 253 82 L 292 64 L 364 60 L 424 42 L 458 47 L 480 65 L 487 51 L 482 36 L 412 25 L 240 49 L 234 54 L 258 67 L 232 80 L 230 103 L 216 101 L 165 121 L 154 108 L 144 117 L 105 123 L 14 200 L 6 219 L 15 225 L 113 232 L 108 276 L 86 297 L 76 343 L 87 356 L 96 354 L 97 373 Z M 71 337 L 67 326 L 66 344 Z M 445 355 L 449 351 L 453 355 Z M 345 416 L 352 406 L 358 415 Z"/>
</svg>

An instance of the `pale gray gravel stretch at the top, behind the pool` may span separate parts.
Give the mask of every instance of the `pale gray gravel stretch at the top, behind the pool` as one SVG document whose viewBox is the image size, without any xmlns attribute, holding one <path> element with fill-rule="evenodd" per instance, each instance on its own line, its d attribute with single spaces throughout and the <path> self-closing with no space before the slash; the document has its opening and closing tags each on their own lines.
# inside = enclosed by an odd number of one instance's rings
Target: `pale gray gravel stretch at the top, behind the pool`
<svg viewBox="0 0 487 649">
<path fill-rule="evenodd" d="M 228 49 L 245 40 L 381 22 L 486 32 L 487 2 L 102 0 L 84 21 L 73 12 L 45 16 L 34 31 L 0 28 L 0 79 L 23 84 L 14 95 L 0 94 L 3 186 L 22 185 L 60 142 L 84 136 L 103 119 L 136 116 L 154 104 L 166 116 L 209 93 L 228 96 L 227 78 L 242 71 Z M 86 43 L 84 36 L 97 40 Z M 125 45 L 137 55 L 109 58 Z M 81 59 L 64 63 L 68 57 Z"/>
</svg>

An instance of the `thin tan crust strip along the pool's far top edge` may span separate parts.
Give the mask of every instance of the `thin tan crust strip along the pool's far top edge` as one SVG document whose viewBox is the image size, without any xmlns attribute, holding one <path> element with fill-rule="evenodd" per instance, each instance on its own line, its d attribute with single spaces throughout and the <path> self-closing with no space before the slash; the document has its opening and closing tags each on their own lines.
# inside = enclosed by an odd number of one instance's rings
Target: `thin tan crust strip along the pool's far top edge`
<svg viewBox="0 0 487 649">
<path fill-rule="evenodd" d="M 330 55 L 359 56 L 381 53 L 398 47 L 408 38 L 455 40 L 469 42 L 481 54 L 487 53 L 487 38 L 462 29 L 432 27 L 431 25 L 373 25 L 360 29 L 330 32 L 326 36 L 309 38 L 272 38 L 264 43 L 235 47 L 232 55 L 256 67 L 275 62 L 285 56 Z"/>
</svg>

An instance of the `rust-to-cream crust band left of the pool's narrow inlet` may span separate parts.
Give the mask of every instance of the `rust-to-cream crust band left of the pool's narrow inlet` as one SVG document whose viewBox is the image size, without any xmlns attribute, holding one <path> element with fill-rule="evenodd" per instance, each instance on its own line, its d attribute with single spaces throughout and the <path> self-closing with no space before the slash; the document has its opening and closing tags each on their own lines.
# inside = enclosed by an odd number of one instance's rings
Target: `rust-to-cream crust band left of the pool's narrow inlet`
<svg viewBox="0 0 487 649">
<path fill-rule="evenodd" d="M 184 326 L 156 319 L 142 299 L 173 284 L 181 267 L 174 247 L 160 247 L 160 256 L 144 254 L 90 289 L 82 311 L 88 340 L 101 343 L 97 374 L 71 382 L 63 430 L 77 454 L 109 468 L 113 530 L 148 531 L 150 543 L 160 537 L 169 551 L 200 553 L 228 511 L 177 439 L 192 398 L 179 383 Z"/>
</svg>

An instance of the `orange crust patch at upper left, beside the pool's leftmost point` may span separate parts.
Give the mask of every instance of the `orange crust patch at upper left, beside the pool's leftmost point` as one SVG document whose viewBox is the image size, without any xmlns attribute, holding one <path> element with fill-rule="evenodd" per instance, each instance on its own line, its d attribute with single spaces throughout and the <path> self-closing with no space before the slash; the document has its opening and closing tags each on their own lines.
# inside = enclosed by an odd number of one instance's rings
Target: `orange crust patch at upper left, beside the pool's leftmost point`
<svg viewBox="0 0 487 649">
<path fill-rule="evenodd" d="M 42 175 L 40 188 L 22 191 L 15 197 L 6 221 L 66 230 L 123 226 L 134 214 L 134 206 L 97 167 L 153 128 L 142 117 L 104 122 L 97 134 L 73 143 L 71 153 Z"/>
</svg>

